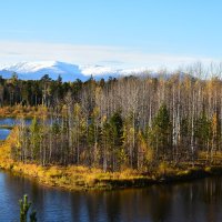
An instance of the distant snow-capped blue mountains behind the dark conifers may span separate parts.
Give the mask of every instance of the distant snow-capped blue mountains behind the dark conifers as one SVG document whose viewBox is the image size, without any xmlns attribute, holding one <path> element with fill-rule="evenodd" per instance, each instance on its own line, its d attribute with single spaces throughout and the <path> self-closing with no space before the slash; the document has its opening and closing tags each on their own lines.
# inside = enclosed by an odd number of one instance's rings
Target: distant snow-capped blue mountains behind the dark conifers
<svg viewBox="0 0 222 222">
<path fill-rule="evenodd" d="M 99 80 L 101 78 L 108 79 L 109 77 L 120 77 L 143 71 L 144 69 L 123 70 L 102 65 L 81 67 L 59 61 L 19 62 L 11 65 L 0 65 L 0 75 L 3 78 L 9 79 L 16 72 L 19 79 L 22 80 L 39 80 L 44 74 L 49 74 L 53 80 L 61 75 L 63 81 L 74 81 L 77 79 L 85 81 L 91 75 Z"/>
</svg>

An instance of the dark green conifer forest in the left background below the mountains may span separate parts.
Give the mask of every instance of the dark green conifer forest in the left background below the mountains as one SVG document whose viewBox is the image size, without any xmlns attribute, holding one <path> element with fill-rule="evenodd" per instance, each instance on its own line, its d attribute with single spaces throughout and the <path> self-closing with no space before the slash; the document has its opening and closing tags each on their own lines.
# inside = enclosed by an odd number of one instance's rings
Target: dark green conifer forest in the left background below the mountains
<svg viewBox="0 0 222 222">
<path fill-rule="evenodd" d="M 101 80 L 103 81 L 103 80 Z M 0 75 L 0 107 L 4 105 L 52 105 L 54 101 L 63 100 L 68 91 L 77 95 L 84 83 L 81 80 L 62 82 L 59 75 L 52 80 L 48 74 L 41 80 L 19 80 L 13 73 L 11 79 Z"/>
</svg>

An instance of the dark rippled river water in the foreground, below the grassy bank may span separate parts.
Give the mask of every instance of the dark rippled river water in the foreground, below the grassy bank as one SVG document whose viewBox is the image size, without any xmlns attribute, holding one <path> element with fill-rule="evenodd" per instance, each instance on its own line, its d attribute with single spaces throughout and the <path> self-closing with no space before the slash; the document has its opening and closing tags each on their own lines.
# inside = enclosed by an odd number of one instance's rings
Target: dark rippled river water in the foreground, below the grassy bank
<svg viewBox="0 0 222 222">
<path fill-rule="evenodd" d="M 18 221 L 28 193 L 40 222 L 222 221 L 222 178 L 100 192 L 69 192 L 0 172 L 0 221 Z"/>
</svg>

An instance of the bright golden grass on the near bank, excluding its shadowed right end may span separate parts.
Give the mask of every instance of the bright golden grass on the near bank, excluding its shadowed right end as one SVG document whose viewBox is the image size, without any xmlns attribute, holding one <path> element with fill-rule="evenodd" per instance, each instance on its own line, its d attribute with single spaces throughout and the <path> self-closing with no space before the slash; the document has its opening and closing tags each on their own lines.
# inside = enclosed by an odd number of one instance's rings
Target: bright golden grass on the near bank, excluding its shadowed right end
<svg viewBox="0 0 222 222">
<path fill-rule="evenodd" d="M 70 190 L 82 190 L 82 189 L 109 189 L 111 188 L 110 182 L 113 181 L 129 181 L 144 178 L 133 171 L 127 169 L 122 172 L 103 172 L 101 169 L 87 168 L 87 167 L 41 167 L 38 164 L 22 163 L 13 161 L 10 154 L 10 148 L 17 141 L 13 137 L 14 131 L 8 138 L 7 141 L 0 144 L 0 168 L 10 170 L 12 172 L 19 172 L 29 178 L 36 178 L 41 183 L 60 186 Z"/>
</svg>

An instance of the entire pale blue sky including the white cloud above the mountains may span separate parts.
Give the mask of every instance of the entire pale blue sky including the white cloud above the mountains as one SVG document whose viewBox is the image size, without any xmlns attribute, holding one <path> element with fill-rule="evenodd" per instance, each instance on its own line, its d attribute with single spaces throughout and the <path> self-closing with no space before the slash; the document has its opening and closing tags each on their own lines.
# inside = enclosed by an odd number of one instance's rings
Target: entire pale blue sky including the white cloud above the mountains
<svg viewBox="0 0 222 222">
<path fill-rule="evenodd" d="M 7 0 L 0 62 L 125 67 L 220 61 L 219 0 Z"/>
</svg>

